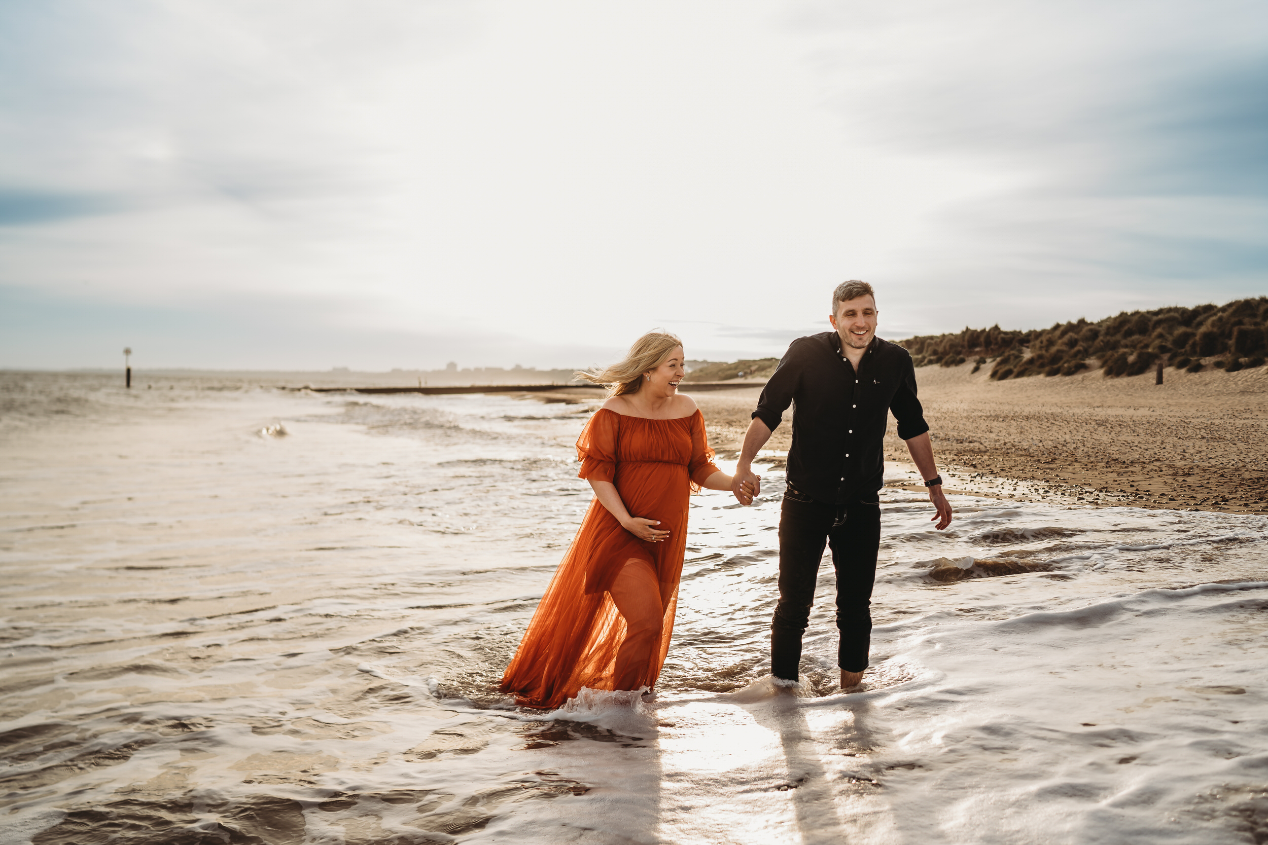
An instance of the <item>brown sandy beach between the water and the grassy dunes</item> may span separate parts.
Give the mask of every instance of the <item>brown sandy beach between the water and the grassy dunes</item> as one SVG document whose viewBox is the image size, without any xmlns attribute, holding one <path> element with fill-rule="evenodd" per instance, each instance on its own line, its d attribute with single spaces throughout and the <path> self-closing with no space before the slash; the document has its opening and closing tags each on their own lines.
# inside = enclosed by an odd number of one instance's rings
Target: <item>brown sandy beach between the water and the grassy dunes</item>
<svg viewBox="0 0 1268 845">
<path fill-rule="evenodd" d="M 948 489 L 1268 513 L 1268 367 L 1167 370 L 1161 385 L 1153 372 L 990 381 L 989 367 L 971 369 L 915 374 Z M 760 393 L 744 386 L 695 395 L 719 452 L 739 448 Z M 791 428 L 780 426 L 767 448 L 787 450 L 790 437 Z M 885 459 L 910 460 L 893 423 Z"/>
</svg>

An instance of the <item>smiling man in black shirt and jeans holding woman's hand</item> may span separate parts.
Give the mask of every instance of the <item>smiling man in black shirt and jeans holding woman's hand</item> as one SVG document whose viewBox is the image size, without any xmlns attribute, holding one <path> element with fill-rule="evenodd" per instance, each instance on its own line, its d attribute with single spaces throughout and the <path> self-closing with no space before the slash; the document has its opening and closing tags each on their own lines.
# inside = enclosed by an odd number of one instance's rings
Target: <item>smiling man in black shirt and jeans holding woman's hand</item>
<svg viewBox="0 0 1268 845">
<path fill-rule="evenodd" d="M 787 489 L 780 512 L 780 602 L 771 621 L 771 674 L 798 680 L 801 635 L 814 604 L 824 542 L 837 570 L 837 665 L 841 688 L 862 682 L 871 642 L 872 581 L 880 547 L 888 412 L 898 419 L 915 467 L 937 508 L 938 531 L 951 524 L 951 505 L 933 462 L 933 445 L 915 398 L 915 369 L 900 346 L 876 337 L 876 295 L 865 281 L 842 283 L 832 294 L 834 332 L 799 337 L 762 390 L 735 467 L 741 502 L 761 492 L 751 467 L 757 451 L 794 404 Z M 747 500 L 746 500 L 747 499 Z"/>
</svg>

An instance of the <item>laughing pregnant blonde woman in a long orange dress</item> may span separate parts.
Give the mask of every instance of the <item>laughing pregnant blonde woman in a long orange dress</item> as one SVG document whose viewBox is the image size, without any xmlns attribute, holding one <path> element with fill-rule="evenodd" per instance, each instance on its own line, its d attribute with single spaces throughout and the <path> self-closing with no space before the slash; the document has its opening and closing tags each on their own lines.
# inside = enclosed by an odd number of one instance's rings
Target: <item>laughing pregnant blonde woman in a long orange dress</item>
<svg viewBox="0 0 1268 845">
<path fill-rule="evenodd" d="M 595 499 L 502 677 L 526 707 L 559 707 L 582 687 L 656 685 L 670 647 L 686 550 L 687 498 L 729 490 L 704 418 L 677 393 L 682 341 L 649 332 L 620 364 L 577 376 L 609 386 L 577 440 Z M 748 488 L 742 497 L 751 500 Z M 744 502 L 746 504 L 748 502 Z"/>
</svg>

